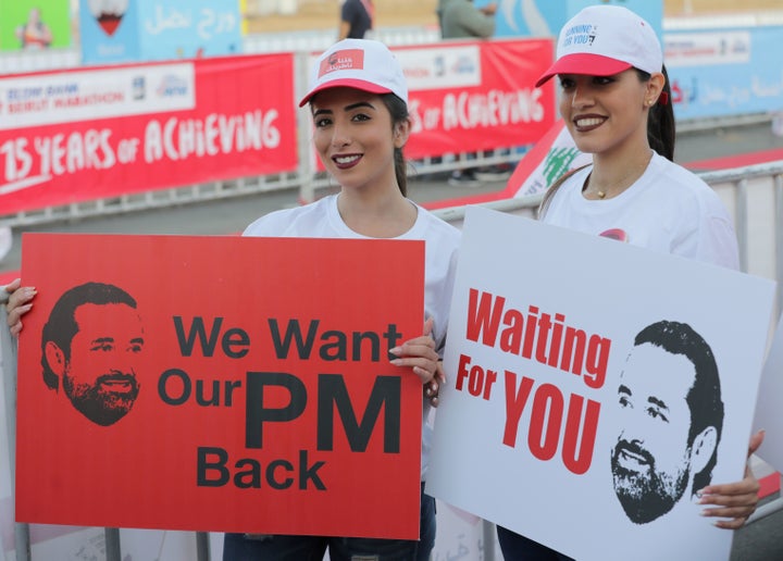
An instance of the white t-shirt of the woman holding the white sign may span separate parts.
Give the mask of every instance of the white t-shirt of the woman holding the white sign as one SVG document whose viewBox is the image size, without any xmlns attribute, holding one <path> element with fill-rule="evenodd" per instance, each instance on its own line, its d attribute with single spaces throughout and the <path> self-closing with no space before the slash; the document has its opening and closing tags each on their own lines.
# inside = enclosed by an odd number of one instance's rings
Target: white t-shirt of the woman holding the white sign
<svg viewBox="0 0 783 561">
<path fill-rule="evenodd" d="M 699 177 L 654 152 L 645 173 L 619 196 L 582 194 L 588 165 L 569 177 L 542 221 L 706 263 L 739 269 L 731 216 Z"/>
</svg>

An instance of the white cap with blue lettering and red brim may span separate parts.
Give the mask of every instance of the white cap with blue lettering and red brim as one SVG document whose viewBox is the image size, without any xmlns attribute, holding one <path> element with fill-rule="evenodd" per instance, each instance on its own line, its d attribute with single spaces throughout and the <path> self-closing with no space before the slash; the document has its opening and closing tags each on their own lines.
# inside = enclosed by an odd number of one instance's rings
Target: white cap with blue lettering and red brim
<svg viewBox="0 0 783 561">
<path fill-rule="evenodd" d="M 557 60 L 536 87 L 556 74 L 611 76 L 631 67 L 652 74 L 663 52 L 652 26 L 621 5 L 591 5 L 560 30 Z"/>
</svg>

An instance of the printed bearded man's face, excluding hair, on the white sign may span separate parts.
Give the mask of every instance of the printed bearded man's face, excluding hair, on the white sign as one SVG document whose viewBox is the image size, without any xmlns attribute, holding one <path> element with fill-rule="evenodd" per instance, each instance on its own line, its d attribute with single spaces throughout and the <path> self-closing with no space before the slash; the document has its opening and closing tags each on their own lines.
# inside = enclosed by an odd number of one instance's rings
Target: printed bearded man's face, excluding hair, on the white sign
<svg viewBox="0 0 783 561">
<path fill-rule="evenodd" d="M 683 354 L 635 347 L 620 378 L 621 433 L 611 454 L 614 491 L 631 521 L 669 512 L 691 481 L 693 442 L 686 401 L 696 371 Z"/>
</svg>

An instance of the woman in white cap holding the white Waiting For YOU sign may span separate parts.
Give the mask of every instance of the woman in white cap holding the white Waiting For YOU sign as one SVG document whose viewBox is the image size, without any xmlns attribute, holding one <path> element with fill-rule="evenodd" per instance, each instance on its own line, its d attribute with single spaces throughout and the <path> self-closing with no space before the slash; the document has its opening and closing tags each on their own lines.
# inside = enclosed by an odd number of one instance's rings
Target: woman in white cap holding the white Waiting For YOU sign
<svg viewBox="0 0 783 561">
<path fill-rule="evenodd" d="M 542 221 L 664 253 L 738 269 L 731 219 L 710 187 L 673 163 L 674 114 L 660 42 L 650 25 L 616 5 L 585 8 L 561 29 L 559 109 L 576 147 L 593 163 L 547 191 Z M 762 434 L 751 438 L 750 450 Z M 693 488 L 701 513 L 738 528 L 756 509 L 758 482 Z M 506 561 L 568 557 L 498 527 Z"/>
</svg>

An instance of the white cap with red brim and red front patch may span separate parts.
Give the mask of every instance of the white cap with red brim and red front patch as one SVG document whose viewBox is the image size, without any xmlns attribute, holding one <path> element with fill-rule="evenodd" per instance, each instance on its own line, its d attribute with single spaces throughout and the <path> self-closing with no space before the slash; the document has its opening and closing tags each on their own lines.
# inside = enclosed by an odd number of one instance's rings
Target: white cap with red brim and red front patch
<svg viewBox="0 0 783 561">
<path fill-rule="evenodd" d="M 408 103 L 408 85 L 397 58 L 383 42 L 343 39 L 319 57 L 310 74 L 310 91 L 299 102 L 327 88 L 346 86 L 370 94 L 394 94 Z"/>
</svg>

